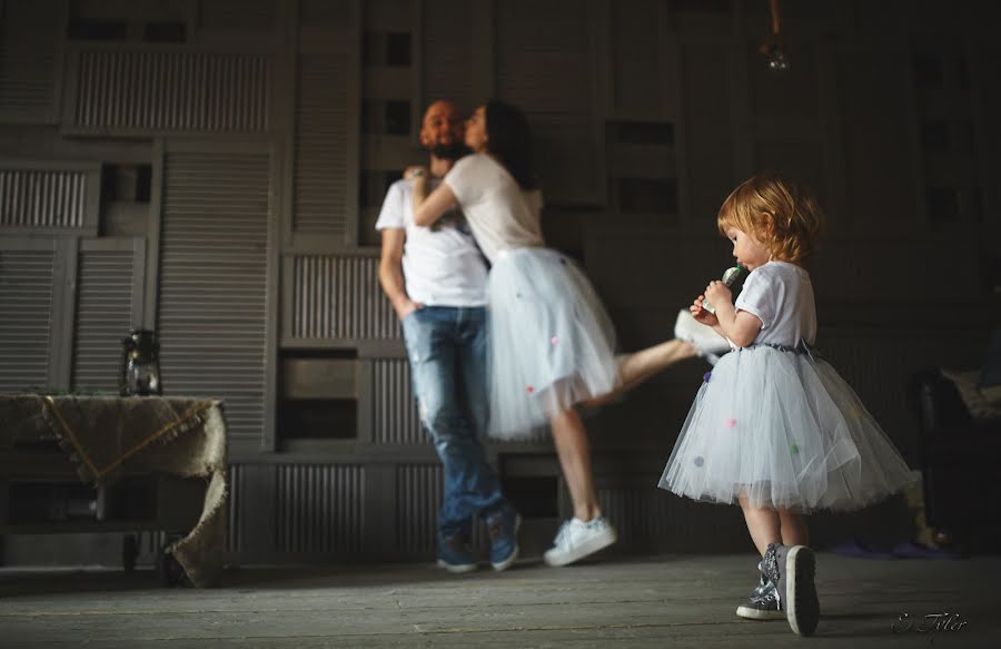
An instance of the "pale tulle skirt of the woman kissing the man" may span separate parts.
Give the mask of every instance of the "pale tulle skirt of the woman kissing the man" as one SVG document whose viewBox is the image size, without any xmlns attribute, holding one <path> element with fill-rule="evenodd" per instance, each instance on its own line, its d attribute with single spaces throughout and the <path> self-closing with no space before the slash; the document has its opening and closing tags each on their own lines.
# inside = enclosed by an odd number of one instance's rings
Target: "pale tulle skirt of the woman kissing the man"
<svg viewBox="0 0 1001 649">
<path fill-rule="evenodd" d="M 488 314 L 490 436 L 529 436 L 554 412 L 615 387 L 615 331 L 573 259 L 505 250 L 490 268 Z"/>
</svg>

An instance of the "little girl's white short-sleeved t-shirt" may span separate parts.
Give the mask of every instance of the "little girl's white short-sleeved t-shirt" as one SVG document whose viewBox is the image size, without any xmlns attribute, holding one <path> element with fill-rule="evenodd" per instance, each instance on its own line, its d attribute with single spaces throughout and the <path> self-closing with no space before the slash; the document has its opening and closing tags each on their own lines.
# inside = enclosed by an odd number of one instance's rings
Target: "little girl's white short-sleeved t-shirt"
<svg viewBox="0 0 1001 649">
<path fill-rule="evenodd" d="M 787 262 L 769 262 L 751 271 L 733 304 L 761 319 L 753 344 L 795 347 L 816 341 L 816 304 L 810 274 Z"/>
</svg>

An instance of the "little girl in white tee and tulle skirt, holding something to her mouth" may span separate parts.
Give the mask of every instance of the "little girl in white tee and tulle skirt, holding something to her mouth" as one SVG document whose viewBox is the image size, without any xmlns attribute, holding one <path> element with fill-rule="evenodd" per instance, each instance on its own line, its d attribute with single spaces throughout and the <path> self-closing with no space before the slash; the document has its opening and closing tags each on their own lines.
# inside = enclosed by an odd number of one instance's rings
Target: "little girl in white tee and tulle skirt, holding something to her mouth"
<svg viewBox="0 0 1001 649">
<path fill-rule="evenodd" d="M 716 224 L 750 274 L 736 303 L 713 282 L 691 312 L 734 351 L 706 375 L 660 482 L 695 500 L 740 502 L 763 559 L 737 614 L 786 618 L 801 636 L 820 619 L 804 514 L 861 509 L 911 480 L 854 391 L 813 350 L 816 308 L 802 264 L 822 220 L 804 188 L 773 174 L 745 180 L 723 203 Z"/>
</svg>

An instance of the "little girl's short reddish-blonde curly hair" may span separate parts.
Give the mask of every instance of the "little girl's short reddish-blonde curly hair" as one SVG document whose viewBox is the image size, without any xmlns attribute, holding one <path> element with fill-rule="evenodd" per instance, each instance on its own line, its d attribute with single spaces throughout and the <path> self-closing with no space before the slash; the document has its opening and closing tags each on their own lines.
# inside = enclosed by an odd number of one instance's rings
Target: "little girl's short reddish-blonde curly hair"
<svg viewBox="0 0 1001 649">
<path fill-rule="evenodd" d="M 766 171 L 741 183 L 716 216 L 720 234 L 734 227 L 761 242 L 779 262 L 801 264 L 816 253 L 824 214 L 803 185 Z"/>
</svg>

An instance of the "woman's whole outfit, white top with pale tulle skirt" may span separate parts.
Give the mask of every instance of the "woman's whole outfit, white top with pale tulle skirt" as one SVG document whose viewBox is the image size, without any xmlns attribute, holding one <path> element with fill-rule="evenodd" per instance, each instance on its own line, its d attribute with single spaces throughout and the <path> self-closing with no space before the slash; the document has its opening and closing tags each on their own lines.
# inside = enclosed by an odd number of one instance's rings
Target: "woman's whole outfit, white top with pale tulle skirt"
<svg viewBox="0 0 1001 649">
<path fill-rule="evenodd" d="M 612 321 L 579 266 L 544 247 L 537 190 L 524 191 L 485 154 L 456 163 L 444 183 L 493 265 L 488 434 L 534 435 L 553 413 L 615 387 Z"/>
</svg>

